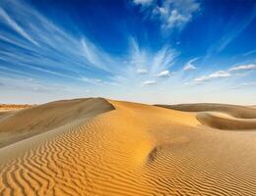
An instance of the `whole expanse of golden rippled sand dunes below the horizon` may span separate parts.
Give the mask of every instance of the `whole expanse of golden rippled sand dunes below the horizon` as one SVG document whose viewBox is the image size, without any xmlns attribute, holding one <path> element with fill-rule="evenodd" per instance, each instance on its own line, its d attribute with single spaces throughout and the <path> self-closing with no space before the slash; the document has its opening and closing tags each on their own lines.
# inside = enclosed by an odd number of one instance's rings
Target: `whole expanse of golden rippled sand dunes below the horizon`
<svg viewBox="0 0 256 196">
<path fill-rule="evenodd" d="M 256 109 L 75 99 L 0 113 L 0 195 L 256 195 Z"/>
</svg>

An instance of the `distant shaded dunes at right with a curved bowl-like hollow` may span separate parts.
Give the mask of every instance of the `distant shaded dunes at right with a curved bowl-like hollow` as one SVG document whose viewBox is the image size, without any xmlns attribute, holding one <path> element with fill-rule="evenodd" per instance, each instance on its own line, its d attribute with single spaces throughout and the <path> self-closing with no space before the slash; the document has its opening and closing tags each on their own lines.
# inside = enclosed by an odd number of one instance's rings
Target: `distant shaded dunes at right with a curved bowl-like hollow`
<svg viewBox="0 0 256 196">
<path fill-rule="evenodd" d="M 197 112 L 197 120 L 219 129 L 256 129 L 256 109 L 224 104 L 158 105 L 183 112 Z"/>
</svg>

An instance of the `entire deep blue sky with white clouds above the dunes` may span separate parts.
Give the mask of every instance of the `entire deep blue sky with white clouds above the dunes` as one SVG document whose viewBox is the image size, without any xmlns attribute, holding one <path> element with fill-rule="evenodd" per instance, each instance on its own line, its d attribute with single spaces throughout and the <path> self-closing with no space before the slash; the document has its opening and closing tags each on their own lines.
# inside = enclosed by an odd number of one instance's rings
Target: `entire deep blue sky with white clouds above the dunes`
<svg viewBox="0 0 256 196">
<path fill-rule="evenodd" d="M 0 103 L 97 96 L 256 104 L 256 1 L 0 1 Z"/>
</svg>

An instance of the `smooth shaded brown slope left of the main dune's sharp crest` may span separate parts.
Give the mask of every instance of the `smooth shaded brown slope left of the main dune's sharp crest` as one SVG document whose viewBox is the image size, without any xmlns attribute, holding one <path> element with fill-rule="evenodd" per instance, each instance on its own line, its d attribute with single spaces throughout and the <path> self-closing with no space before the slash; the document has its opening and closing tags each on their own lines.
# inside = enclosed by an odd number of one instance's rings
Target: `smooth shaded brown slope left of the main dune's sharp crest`
<svg viewBox="0 0 256 196">
<path fill-rule="evenodd" d="M 56 101 L 0 113 L 0 147 L 113 109 L 102 98 L 89 98 Z"/>
</svg>

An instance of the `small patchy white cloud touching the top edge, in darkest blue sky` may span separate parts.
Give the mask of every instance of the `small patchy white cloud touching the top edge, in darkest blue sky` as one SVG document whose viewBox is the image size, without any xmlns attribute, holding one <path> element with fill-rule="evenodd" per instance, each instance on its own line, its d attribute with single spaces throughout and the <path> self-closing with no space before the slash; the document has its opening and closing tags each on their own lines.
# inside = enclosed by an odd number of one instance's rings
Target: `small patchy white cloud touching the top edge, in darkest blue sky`
<svg viewBox="0 0 256 196">
<path fill-rule="evenodd" d="M 142 10 L 147 17 L 158 19 L 163 29 L 173 27 L 181 28 L 189 23 L 193 15 L 200 10 L 200 4 L 196 0 L 167 0 L 157 1 L 134 0 L 134 4 L 148 6 L 148 9 Z"/>
</svg>

